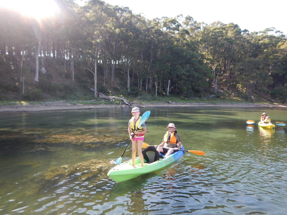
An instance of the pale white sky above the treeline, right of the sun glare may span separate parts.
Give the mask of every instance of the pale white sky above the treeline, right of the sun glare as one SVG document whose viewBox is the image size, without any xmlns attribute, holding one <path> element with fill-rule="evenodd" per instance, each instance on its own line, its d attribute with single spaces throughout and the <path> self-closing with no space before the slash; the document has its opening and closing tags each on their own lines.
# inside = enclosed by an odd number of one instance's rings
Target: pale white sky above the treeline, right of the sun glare
<svg viewBox="0 0 287 215">
<path fill-rule="evenodd" d="M 262 31 L 274 27 L 287 35 L 286 0 L 103 0 L 111 5 L 127 6 L 146 19 L 189 15 L 207 24 L 233 22 L 241 30 Z"/>
</svg>

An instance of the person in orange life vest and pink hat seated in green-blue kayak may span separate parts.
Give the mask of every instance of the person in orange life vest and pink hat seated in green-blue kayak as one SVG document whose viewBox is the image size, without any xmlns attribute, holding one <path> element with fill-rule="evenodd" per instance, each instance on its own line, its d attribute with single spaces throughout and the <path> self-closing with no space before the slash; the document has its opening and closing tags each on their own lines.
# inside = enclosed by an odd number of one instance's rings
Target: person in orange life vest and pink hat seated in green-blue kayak
<svg viewBox="0 0 287 215">
<path fill-rule="evenodd" d="M 155 148 L 157 148 L 157 151 L 159 153 L 165 154 L 165 157 L 169 156 L 170 154 L 181 148 L 181 139 L 179 134 L 177 134 L 177 131 L 175 130 L 175 125 L 173 123 L 169 123 L 167 128 L 168 131 L 165 133 L 162 143 L 158 146 L 154 146 Z"/>
</svg>

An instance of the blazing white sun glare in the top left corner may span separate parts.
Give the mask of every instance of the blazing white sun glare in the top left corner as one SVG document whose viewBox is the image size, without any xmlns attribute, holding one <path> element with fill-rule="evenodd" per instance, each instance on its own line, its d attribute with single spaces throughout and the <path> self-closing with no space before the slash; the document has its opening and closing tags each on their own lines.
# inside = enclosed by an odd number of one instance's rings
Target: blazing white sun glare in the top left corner
<svg viewBox="0 0 287 215">
<path fill-rule="evenodd" d="M 25 16 L 34 17 L 37 20 L 53 16 L 59 10 L 54 0 L 8 0 L 3 1 L 1 6 L 18 11 Z"/>
</svg>

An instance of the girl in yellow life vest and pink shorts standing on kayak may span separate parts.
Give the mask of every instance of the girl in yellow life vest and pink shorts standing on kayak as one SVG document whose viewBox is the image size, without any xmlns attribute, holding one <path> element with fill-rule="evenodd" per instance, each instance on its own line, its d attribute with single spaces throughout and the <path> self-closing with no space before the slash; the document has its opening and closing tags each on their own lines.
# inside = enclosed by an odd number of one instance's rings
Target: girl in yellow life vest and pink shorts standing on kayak
<svg viewBox="0 0 287 215">
<path fill-rule="evenodd" d="M 138 149 L 138 156 L 140 157 L 141 165 L 143 166 L 144 161 L 143 161 L 143 155 L 142 155 L 142 143 L 144 141 L 144 134 L 146 133 L 146 126 L 145 126 L 145 122 L 142 123 L 141 125 L 138 125 L 140 121 L 139 119 L 141 118 L 140 117 L 141 112 L 138 107 L 133 108 L 131 113 L 133 117 L 129 121 L 128 130 L 129 130 L 130 140 L 132 140 L 133 166 L 135 166 L 137 149 Z"/>
</svg>

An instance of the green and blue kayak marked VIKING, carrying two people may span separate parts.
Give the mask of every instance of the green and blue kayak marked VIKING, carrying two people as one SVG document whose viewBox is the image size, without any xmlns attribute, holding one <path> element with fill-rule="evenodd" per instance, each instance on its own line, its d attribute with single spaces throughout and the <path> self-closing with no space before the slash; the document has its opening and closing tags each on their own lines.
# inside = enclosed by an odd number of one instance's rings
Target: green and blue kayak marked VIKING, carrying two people
<svg viewBox="0 0 287 215">
<path fill-rule="evenodd" d="M 181 147 L 181 149 L 184 150 L 183 146 Z M 156 170 L 164 168 L 165 166 L 168 166 L 169 164 L 176 161 L 178 158 L 181 158 L 184 154 L 184 151 L 178 150 L 173 154 L 170 154 L 166 158 L 159 158 L 160 155 L 154 149 L 154 147 L 149 146 L 145 148 L 142 153 L 144 155 L 144 166 L 141 166 L 140 159 L 139 157 L 137 157 L 135 160 L 135 167 L 133 167 L 132 159 L 130 159 L 113 167 L 108 172 L 108 176 L 110 176 L 110 178 L 113 179 L 115 182 L 127 181 L 132 178 L 136 178 L 142 174 L 154 172 Z"/>
</svg>

